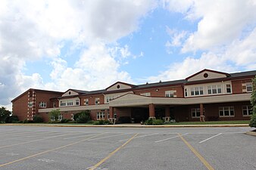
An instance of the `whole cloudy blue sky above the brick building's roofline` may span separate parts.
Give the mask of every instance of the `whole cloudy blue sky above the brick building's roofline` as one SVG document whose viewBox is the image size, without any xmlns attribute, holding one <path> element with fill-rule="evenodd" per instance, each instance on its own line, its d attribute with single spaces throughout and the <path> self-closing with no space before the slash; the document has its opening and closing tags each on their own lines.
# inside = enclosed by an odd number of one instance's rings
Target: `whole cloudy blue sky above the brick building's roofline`
<svg viewBox="0 0 256 170">
<path fill-rule="evenodd" d="M 0 0 L 0 106 L 29 88 L 105 89 L 256 70 L 255 0 Z"/>
</svg>

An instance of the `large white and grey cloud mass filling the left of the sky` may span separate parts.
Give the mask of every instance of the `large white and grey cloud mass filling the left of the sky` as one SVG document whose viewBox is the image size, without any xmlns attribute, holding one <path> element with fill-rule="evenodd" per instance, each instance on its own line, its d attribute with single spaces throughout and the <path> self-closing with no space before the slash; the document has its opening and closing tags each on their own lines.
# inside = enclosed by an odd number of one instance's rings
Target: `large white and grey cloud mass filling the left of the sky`
<svg viewBox="0 0 256 170">
<path fill-rule="evenodd" d="M 109 85 L 117 79 L 130 80 L 128 73 L 120 72 L 118 59 L 108 53 L 105 45 L 136 31 L 141 18 L 156 4 L 153 0 L 2 0 L 0 104 L 9 104 L 13 97 L 30 87 L 60 90 L 57 88 L 60 86 L 61 90 L 66 90 L 75 86 L 86 90 Z M 60 56 L 67 42 L 75 49 L 88 48 L 83 54 L 86 57 L 82 56 L 81 63 L 73 68 L 67 67 Z M 104 49 L 96 47 L 94 50 L 96 43 L 102 43 Z M 92 57 L 90 51 L 94 52 Z M 132 55 L 128 47 L 123 47 L 121 54 L 123 57 Z M 53 82 L 44 83 L 39 73 L 23 73 L 28 60 L 43 57 L 53 60 Z M 106 76 L 107 73 L 110 76 Z M 80 83 L 81 80 L 85 82 Z M 104 83 L 95 85 L 95 80 Z"/>
</svg>

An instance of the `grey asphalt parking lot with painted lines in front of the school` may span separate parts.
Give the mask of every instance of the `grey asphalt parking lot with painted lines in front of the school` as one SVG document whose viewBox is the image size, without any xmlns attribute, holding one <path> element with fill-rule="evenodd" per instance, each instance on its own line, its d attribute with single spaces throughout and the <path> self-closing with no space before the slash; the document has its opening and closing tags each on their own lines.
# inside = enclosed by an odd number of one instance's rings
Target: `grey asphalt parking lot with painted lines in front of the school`
<svg viewBox="0 0 256 170">
<path fill-rule="evenodd" d="M 0 169 L 256 169 L 256 137 L 236 128 L 0 125 Z"/>
</svg>

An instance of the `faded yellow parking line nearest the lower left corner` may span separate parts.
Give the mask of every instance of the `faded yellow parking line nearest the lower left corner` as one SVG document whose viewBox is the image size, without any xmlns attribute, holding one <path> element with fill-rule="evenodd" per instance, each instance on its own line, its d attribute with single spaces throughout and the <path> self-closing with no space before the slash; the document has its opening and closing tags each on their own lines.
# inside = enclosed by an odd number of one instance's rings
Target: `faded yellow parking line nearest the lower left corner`
<svg viewBox="0 0 256 170">
<path fill-rule="evenodd" d="M 14 163 L 14 162 L 20 162 L 20 161 L 22 161 L 22 160 L 24 160 L 24 159 L 29 159 L 29 158 L 34 157 L 34 156 L 39 156 L 39 155 L 42 155 L 42 154 L 44 154 L 44 153 L 51 152 L 51 151 L 53 151 L 53 150 L 60 150 L 60 149 L 62 149 L 62 148 L 64 148 L 64 147 L 70 147 L 70 146 L 72 146 L 72 145 L 74 145 L 74 144 L 78 144 L 78 143 L 80 143 L 80 142 L 87 141 L 87 140 L 89 140 L 89 139 L 91 139 L 91 138 L 98 137 L 99 135 L 101 135 L 101 134 L 97 134 L 97 135 L 92 136 L 92 137 L 90 137 L 90 138 L 86 138 L 86 139 L 83 139 L 83 140 L 81 140 L 81 141 L 76 141 L 76 142 L 74 142 L 74 143 L 67 144 L 67 145 L 64 145 L 64 146 L 62 146 L 62 147 L 57 147 L 57 148 L 52 149 L 52 150 L 45 150 L 45 151 L 42 152 L 42 153 L 36 153 L 36 154 L 34 154 L 34 155 L 31 155 L 31 156 L 27 156 L 27 157 L 24 157 L 24 158 L 21 158 L 21 159 L 17 159 L 17 160 L 11 161 L 11 162 L 7 162 L 7 163 L 5 163 L 5 164 L 0 165 L 0 167 L 5 166 L 5 165 L 10 165 L 10 164 L 12 164 L 12 163 Z"/>
</svg>

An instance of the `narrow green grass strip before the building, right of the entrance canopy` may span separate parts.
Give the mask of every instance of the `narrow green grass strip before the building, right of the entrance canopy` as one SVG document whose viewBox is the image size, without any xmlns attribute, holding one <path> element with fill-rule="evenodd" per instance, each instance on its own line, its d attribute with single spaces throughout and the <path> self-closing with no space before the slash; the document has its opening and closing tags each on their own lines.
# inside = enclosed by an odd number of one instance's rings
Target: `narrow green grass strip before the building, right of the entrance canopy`
<svg viewBox="0 0 256 170">
<path fill-rule="evenodd" d="M 236 121 L 206 121 L 206 122 L 175 122 L 166 125 L 227 125 L 227 124 L 249 124 L 249 120 Z"/>
</svg>

